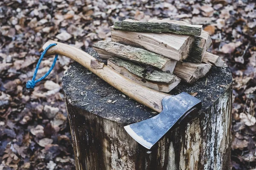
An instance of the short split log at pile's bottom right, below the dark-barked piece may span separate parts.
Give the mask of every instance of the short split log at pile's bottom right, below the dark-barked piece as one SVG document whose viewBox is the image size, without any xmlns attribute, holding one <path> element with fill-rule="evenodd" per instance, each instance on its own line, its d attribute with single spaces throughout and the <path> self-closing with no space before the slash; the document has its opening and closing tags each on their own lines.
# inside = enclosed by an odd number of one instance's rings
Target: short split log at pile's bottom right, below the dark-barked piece
<svg viewBox="0 0 256 170">
<path fill-rule="evenodd" d="M 199 78 L 204 77 L 211 69 L 209 64 L 196 64 L 191 62 L 177 62 L 173 71 L 177 77 L 188 83 L 194 83 Z"/>
</svg>

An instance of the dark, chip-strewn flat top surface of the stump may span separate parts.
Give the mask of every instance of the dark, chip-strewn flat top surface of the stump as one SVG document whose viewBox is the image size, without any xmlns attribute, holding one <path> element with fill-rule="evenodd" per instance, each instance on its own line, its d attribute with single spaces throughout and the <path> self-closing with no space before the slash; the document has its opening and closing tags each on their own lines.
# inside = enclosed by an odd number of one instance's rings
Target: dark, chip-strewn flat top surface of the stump
<svg viewBox="0 0 256 170">
<path fill-rule="evenodd" d="M 87 51 L 93 57 L 99 57 L 96 51 Z M 148 119 L 156 112 L 125 96 L 108 83 L 88 71 L 82 65 L 73 63 L 62 79 L 65 98 L 72 105 L 84 111 L 102 116 L 125 125 Z M 189 85 L 181 82 L 169 94 L 197 93 L 202 101 L 202 113 L 232 85 L 229 68 L 212 67 L 206 77 Z"/>
</svg>

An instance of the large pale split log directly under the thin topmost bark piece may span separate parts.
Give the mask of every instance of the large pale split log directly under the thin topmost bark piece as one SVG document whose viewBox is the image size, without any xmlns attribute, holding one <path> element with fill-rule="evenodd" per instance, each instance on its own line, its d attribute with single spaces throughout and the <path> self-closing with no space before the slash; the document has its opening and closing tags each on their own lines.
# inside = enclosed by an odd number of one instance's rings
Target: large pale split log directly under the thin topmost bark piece
<svg viewBox="0 0 256 170">
<path fill-rule="evenodd" d="M 119 31 L 114 30 L 113 26 L 111 26 L 111 40 L 125 45 L 144 48 L 169 59 L 181 61 L 188 57 L 194 42 L 194 36 Z"/>
</svg>

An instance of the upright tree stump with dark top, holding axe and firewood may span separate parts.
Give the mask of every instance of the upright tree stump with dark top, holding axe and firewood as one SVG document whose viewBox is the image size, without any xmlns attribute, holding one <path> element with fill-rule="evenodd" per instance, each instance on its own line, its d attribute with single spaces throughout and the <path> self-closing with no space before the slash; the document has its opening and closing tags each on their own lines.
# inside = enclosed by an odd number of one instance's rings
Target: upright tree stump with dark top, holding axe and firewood
<svg viewBox="0 0 256 170">
<path fill-rule="evenodd" d="M 93 57 L 97 53 L 89 51 Z M 197 93 L 198 116 L 169 131 L 148 150 L 124 126 L 157 115 L 74 63 L 63 77 L 64 101 L 77 170 L 228 170 L 231 151 L 232 76 L 213 67 L 195 84 L 171 94 Z"/>
</svg>

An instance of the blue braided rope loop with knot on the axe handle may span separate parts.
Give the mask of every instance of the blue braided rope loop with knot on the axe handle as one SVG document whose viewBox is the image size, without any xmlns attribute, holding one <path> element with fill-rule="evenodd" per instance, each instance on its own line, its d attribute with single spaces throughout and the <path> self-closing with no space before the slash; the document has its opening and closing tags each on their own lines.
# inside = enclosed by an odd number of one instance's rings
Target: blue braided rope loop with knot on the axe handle
<svg viewBox="0 0 256 170">
<path fill-rule="evenodd" d="M 26 83 L 26 88 L 27 88 L 27 89 L 33 89 L 33 88 L 35 88 L 35 84 L 38 83 L 38 82 L 40 82 L 40 81 L 41 81 L 42 79 L 44 79 L 45 77 L 47 77 L 47 76 L 50 74 L 50 72 L 52 71 L 52 69 L 54 68 L 54 65 L 55 65 L 55 63 L 56 63 L 56 61 L 57 61 L 57 59 L 58 59 L 58 54 L 55 55 L 55 58 L 54 58 L 54 60 L 53 60 L 52 66 L 51 66 L 51 68 L 49 69 L 49 71 L 47 71 L 47 73 L 44 74 L 43 77 L 41 77 L 41 78 L 35 80 L 36 74 L 37 74 L 37 72 L 38 72 L 39 65 L 40 65 L 42 59 L 44 58 L 44 55 L 45 55 L 46 52 L 49 50 L 49 48 L 51 48 L 52 46 L 55 46 L 55 45 L 57 45 L 57 44 L 56 44 L 56 43 L 50 44 L 50 45 L 47 46 L 47 48 L 44 49 L 43 53 L 41 54 L 41 57 L 40 57 L 39 60 L 38 60 L 37 65 L 36 65 L 36 67 L 35 67 L 35 72 L 34 72 L 34 75 L 33 75 L 32 80 L 29 80 L 29 81 Z"/>
</svg>

